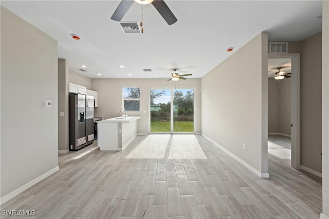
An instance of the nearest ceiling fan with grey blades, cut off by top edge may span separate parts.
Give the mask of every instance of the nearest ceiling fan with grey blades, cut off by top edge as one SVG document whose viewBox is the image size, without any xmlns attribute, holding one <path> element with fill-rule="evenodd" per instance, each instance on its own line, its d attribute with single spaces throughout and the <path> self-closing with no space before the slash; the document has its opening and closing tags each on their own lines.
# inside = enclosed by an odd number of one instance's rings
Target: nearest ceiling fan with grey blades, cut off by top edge
<svg viewBox="0 0 329 219">
<path fill-rule="evenodd" d="M 163 0 L 122 0 L 118 8 L 113 13 L 111 19 L 114 21 L 121 21 L 122 17 L 129 10 L 129 8 L 133 5 L 134 2 L 137 2 L 142 5 L 150 4 L 155 7 L 155 9 L 161 14 L 163 19 L 169 24 L 172 25 L 177 21 L 177 18 L 171 12 L 167 4 Z"/>
</svg>

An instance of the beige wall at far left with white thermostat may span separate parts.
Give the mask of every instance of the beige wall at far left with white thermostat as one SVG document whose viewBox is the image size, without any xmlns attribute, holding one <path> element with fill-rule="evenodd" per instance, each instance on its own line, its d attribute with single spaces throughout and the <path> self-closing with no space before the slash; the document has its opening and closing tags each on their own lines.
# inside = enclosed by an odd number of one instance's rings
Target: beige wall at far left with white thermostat
<svg viewBox="0 0 329 219">
<path fill-rule="evenodd" d="M 1 197 L 58 167 L 57 107 L 57 41 L 1 7 Z"/>
</svg>

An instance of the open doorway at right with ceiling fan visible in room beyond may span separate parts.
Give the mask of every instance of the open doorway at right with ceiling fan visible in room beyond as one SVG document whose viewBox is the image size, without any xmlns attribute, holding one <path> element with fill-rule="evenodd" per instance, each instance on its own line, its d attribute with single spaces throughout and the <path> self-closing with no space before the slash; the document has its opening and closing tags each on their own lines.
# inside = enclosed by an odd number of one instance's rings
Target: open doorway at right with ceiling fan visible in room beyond
<svg viewBox="0 0 329 219">
<path fill-rule="evenodd" d="M 270 78 L 274 75 L 273 70 L 277 72 L 278 68 L 281 68 L 279 71 L 291 73 L 289 74 L 291 77 L 284 77 L 278 80 Z M 299 169 L 300 54 L 269 53 L 268 70 L 268 134 L 274 134 L 275 140 L 278 140 L 280 136 L 282 138 L 290 137 L 291 149 L 288 146 L 282 147 L 282 151 L 290 150 L 290 165 Z M 271 148 L 273 146 L 270 144 L 270 141 L 273 141 L 271 138 L 272 136 L 268 137 L 269 152 L 274 150 Z M 286 143 L 289 142 L 288 138 L 285 140 Z M 284 140 L 281 141 L 284 142 Z M 283 156 L 286 157 L 287 154 Z"/>
</svg>

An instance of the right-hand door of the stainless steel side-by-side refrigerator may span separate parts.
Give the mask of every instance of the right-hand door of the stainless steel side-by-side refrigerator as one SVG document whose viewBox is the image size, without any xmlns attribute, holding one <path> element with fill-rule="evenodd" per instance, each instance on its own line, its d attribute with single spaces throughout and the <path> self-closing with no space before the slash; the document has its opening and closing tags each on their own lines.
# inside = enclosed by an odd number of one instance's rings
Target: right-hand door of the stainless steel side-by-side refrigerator
<svg viewBox="0 0 329 219">
<path fill-rule="evenodd" d="M 86 96 L 86 145 L 94 142 L 94 96 Z"/>
</svg>

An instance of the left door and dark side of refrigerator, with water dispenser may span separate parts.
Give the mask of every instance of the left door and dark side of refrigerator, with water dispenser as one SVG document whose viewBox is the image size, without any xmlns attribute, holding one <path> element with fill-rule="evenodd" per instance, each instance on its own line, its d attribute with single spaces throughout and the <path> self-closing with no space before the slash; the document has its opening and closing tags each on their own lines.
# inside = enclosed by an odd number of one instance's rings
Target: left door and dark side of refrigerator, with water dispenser
<svg viewBox="0 0 329 219">
<path fill-rule="evenodd" d="M 86 146 L 86 95 L 68 94 L 68 143 L 69 150 Z"/>
</svg>

